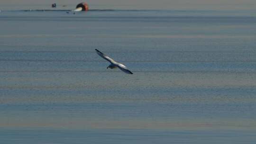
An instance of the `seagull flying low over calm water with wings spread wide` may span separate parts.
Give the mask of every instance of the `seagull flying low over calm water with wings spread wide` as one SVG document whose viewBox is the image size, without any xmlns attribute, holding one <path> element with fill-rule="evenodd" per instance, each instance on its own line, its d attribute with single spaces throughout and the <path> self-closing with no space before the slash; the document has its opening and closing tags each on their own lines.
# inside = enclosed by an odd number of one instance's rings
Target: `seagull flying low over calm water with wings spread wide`
<svg viewBox="0 0 256 144">
<path fill-rule="evenodd" d="M 133 74 L 131 71 L 129 71 L 127 69 L 127 67 L 125 65 L 123 65 L 122 63 L 117 63 L 116 61 L 114 61 L 113 59 L 111 59 L 109 56 L 101 53 L 99 50 L 95 49 L 96 53 L 99 54 L 103 59 L 107 60 L 110 62 L 110 65 L 107 67 L 110 69 L 115 69 L 115 68 L 119 68 L 121 71 L 128 73 L 128 74 Z"/>
</svg>

